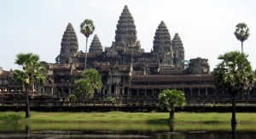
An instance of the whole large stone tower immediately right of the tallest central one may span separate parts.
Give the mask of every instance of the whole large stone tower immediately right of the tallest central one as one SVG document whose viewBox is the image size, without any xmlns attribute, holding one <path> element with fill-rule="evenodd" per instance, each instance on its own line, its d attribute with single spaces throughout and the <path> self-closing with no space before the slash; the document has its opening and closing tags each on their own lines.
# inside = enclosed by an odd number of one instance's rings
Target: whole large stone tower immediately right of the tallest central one
<svg viewBox="0 0 256 139">
<path fill-rule="evenodd" d="M 173 65 L 173 52 L 171 35 L 164 21 L 155 31 L 153 42 L 154 55 L 160 64 Z"/>
</svg>

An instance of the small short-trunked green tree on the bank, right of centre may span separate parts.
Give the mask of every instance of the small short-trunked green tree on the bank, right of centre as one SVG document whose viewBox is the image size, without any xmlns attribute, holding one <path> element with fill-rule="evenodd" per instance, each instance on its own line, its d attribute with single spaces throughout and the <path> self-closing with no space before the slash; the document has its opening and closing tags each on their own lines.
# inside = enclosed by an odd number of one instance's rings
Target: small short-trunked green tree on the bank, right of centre
<svg viewBox="0 0 256 139">
<path fill-rule="evenodd" d="M 170 119 L 173 120 L 175 107 L 183 107 L 185 105 L 185 97 L 182 91 L 164 90 L 158 95 L 158 107 L 160 109 L 167 108 L 170 112 Z"/>
</svg>

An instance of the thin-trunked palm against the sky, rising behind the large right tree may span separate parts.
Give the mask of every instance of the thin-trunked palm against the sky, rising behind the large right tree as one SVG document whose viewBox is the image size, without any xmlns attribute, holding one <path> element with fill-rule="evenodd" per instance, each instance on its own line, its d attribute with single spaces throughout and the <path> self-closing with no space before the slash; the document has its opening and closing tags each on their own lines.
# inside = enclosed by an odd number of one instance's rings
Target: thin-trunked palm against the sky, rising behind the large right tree
<svg viewBox="0 0 256 139">
<path fill-rule="evenodd" d="M 243 42 L 250 36 L 249 28 L 245 23 L 239 23 L 236 25 L 235 36 L 237 40 L 241 42 L 241 53 L 243 53 Z"/>
</svg>

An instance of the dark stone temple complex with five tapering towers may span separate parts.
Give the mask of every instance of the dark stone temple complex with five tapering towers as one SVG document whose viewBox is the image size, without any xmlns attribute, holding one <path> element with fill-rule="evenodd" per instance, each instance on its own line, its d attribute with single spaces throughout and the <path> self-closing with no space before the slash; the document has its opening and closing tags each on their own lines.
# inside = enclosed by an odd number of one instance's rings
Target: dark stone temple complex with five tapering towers
<svg viewBox="0 0 256 139">
<path fill-rule="evenodd" d="M 95 99 L 113 96 L 122 103 L 154 103 L 164 89 L 182 90 L 187 98 L 227 96 L 215 88 L 207 58 L 185 60 L 184 52 L 181 37 L 175 33 L 172 38 L 164 21 L 160 21 L 155 31 L 151 52 L 144 52 L 137 40 L 135 21 L 125 6 L 111 47 L 103 50 L 97 35 L 90 43 L 86 67 L 98 70 L 103 83 Z M 73 25 L 68 23 L 61 40 L 61 53 L 55 64 L 44 62 L 48 80 L 35 86 L 36 92 L 67 97 L 84 70 L 84 57 Z M 0 72 L 2 91 L 15 90 L 16 86 L 8 81 L 10 72 L 3 69 Z M 256 96 L 255 87 L 250 93 Z"/>
</svg>

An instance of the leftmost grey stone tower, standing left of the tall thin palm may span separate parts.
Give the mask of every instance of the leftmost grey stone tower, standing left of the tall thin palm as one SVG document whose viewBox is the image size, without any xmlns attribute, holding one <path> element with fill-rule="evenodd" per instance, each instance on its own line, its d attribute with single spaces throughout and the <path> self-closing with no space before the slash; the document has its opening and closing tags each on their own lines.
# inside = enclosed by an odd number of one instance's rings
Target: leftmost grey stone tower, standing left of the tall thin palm
<svg viewBox="0 0 256 139">
<path fill-rule="evenodd" d="M 61 40 L 61 53 L 60 63 L 67 64 L 71 63 L 71 58 L 75 56 L 79 51 L 79 42 L 73 26 L 68 23 L 66 31 L 62 36 Z"/>
</svg>

